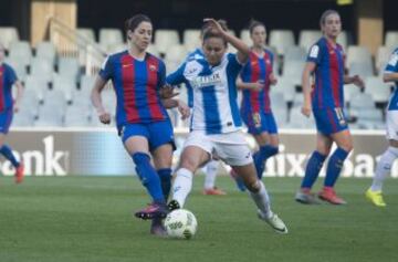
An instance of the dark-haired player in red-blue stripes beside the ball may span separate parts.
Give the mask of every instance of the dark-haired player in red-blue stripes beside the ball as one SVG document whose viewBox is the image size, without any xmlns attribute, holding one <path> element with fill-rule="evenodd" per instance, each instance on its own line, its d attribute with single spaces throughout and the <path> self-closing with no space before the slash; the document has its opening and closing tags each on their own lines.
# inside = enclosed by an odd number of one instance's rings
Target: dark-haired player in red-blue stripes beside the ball
<svg viewBox="0 0 398 262">
<path fill-rule="evenodd" d="M 165 84 L 166 69 L 161 60 L 146 52 L 153 24 L 148 17 L 136 14 L 126 21 L 128 50 L 109 55 L 92 92 L 92 102 L 100 120 L 109 124 L 111 115 L 103 106 L 101 92 L 112 80 L 117 97 L 116 124 L 122 142 L 132 156 L 136 171 L 153 199 L 153 203 L 136 217 L 154 219 L 151 233 L 163 234 L 160 219 L 167 214 L 170 191 L 172 126 L 161 102 L 159 90 Z M 178 106 L 186 117 L 189 108 L 184 103 L 168 99 L 166 107 Z M 150 164 L 153 157 L 155 167 Z"/>
</svg>

